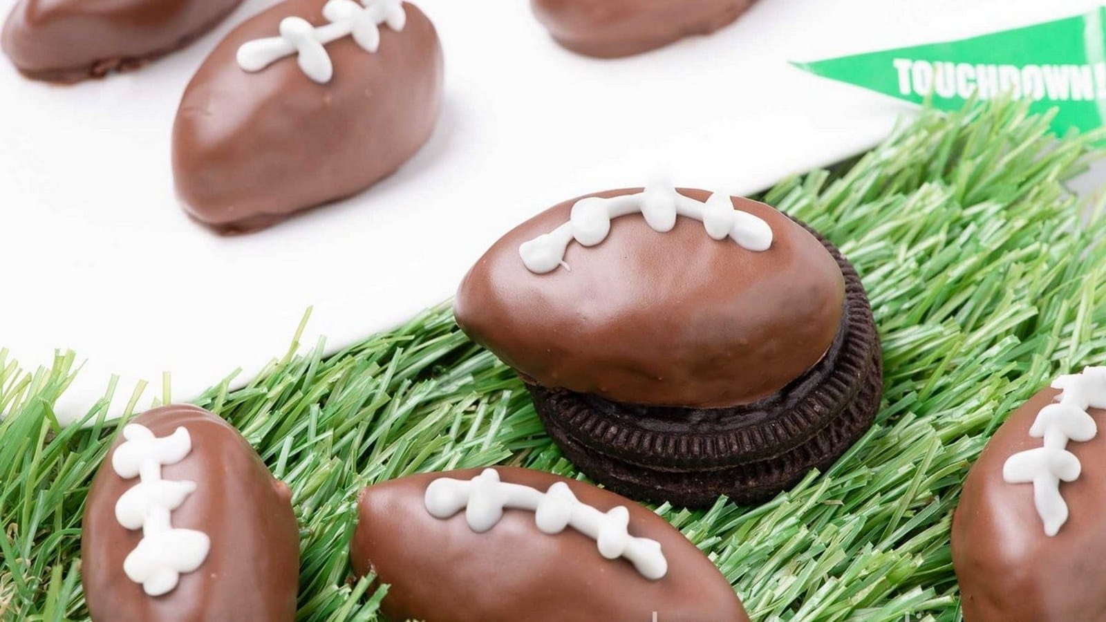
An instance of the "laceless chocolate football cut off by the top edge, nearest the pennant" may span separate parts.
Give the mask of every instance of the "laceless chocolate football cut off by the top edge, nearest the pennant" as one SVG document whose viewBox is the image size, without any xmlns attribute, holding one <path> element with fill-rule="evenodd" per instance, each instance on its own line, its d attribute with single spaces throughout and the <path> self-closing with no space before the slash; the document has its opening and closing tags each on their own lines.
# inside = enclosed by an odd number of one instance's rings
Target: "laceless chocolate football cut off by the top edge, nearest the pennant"
<svg viewBox="0 0 1106 622">
<path fill-rule="evenodd" d="M 531 0 L 538 20 L 565 48 L 628 56 L 728 25 L 753 0 Z"/>
</svg>

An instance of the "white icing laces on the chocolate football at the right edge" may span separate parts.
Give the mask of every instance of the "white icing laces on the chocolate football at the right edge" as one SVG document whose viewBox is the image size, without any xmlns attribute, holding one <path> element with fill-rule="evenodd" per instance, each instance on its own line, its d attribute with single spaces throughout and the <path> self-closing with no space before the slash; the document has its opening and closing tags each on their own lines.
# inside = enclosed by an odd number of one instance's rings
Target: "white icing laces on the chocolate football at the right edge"
<svg viewBox="0 0 1106 622">
<path fill-rule="evenodd" d="M 1083 468 L 1079 458 L 1067 450 L 1067 443 L 1085 443 L 1098 433 L 1087 408 L 1106 408 L 1106 367 L 1060 376 L 1052 386 L 1063 390 L 1057 403 L 1041 408 L 1030 427 L 1030 436 L 1042 438 L 1042 446 L 1019 452 L 1002 465 L 1008 484 L 1033 484 L 1033 505 L 1047 536 L 1055 536 L 1067 521 L 1060 483 L 1075 481 Z"/>
</svg>

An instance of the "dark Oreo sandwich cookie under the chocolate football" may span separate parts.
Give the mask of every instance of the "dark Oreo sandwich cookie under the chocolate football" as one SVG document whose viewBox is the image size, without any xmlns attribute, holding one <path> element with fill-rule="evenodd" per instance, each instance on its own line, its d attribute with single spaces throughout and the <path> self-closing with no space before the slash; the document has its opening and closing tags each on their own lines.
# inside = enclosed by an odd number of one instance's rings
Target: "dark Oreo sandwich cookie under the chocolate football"
<svg viewBox="0 0 1106 622">
<path fill-rule="evenodd" d="M 841 457 L 879 408 L 883 357 L 856 270 L 811 232 L 845 276 L 841 329 L 814 367 L 770 397 L 728 408 L 625 404 L 529 384 L 565 456 L 613 490 L 687 506 L 719 495 L 761 501 Z"/>
</svg>

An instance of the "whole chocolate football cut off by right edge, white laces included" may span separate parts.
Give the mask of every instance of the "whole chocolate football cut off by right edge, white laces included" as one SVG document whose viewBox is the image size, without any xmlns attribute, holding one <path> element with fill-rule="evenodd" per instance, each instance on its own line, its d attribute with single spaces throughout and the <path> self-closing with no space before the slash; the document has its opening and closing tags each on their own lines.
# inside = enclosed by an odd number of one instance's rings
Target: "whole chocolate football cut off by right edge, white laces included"
<svg viewBox="0 0 1106 622">
<path fill-rule="evenodd" d="M 966 622 L 1106 620 L 1106 367 L 1018 408 L 964 480 L 952 564 Z"/>
</svg>

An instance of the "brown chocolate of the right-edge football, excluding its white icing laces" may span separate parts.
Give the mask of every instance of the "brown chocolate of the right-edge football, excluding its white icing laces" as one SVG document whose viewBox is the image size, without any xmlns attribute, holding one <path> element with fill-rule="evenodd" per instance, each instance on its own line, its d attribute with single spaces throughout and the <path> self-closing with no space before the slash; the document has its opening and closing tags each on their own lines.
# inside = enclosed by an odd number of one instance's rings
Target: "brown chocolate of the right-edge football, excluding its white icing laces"
<svg viewBox="0 0 1106 622">
<path fill-rule="evenodd" d="M 1045 388 L 1015 411 L 964 480 L 952 517 L 952 564 L 967 622 L 1106 620 L 1106 411 L 1087 411 L 1099 422 L 1097 436 L 1067 445 L 1083 470 L 1060 485 L 1071 514 L 1056 536 L 1044 532 L 1033 486 L 1002 479 L 1006 458 L 1041 446 L 1030 427 L 1058 393 Z"/>
</svg>

